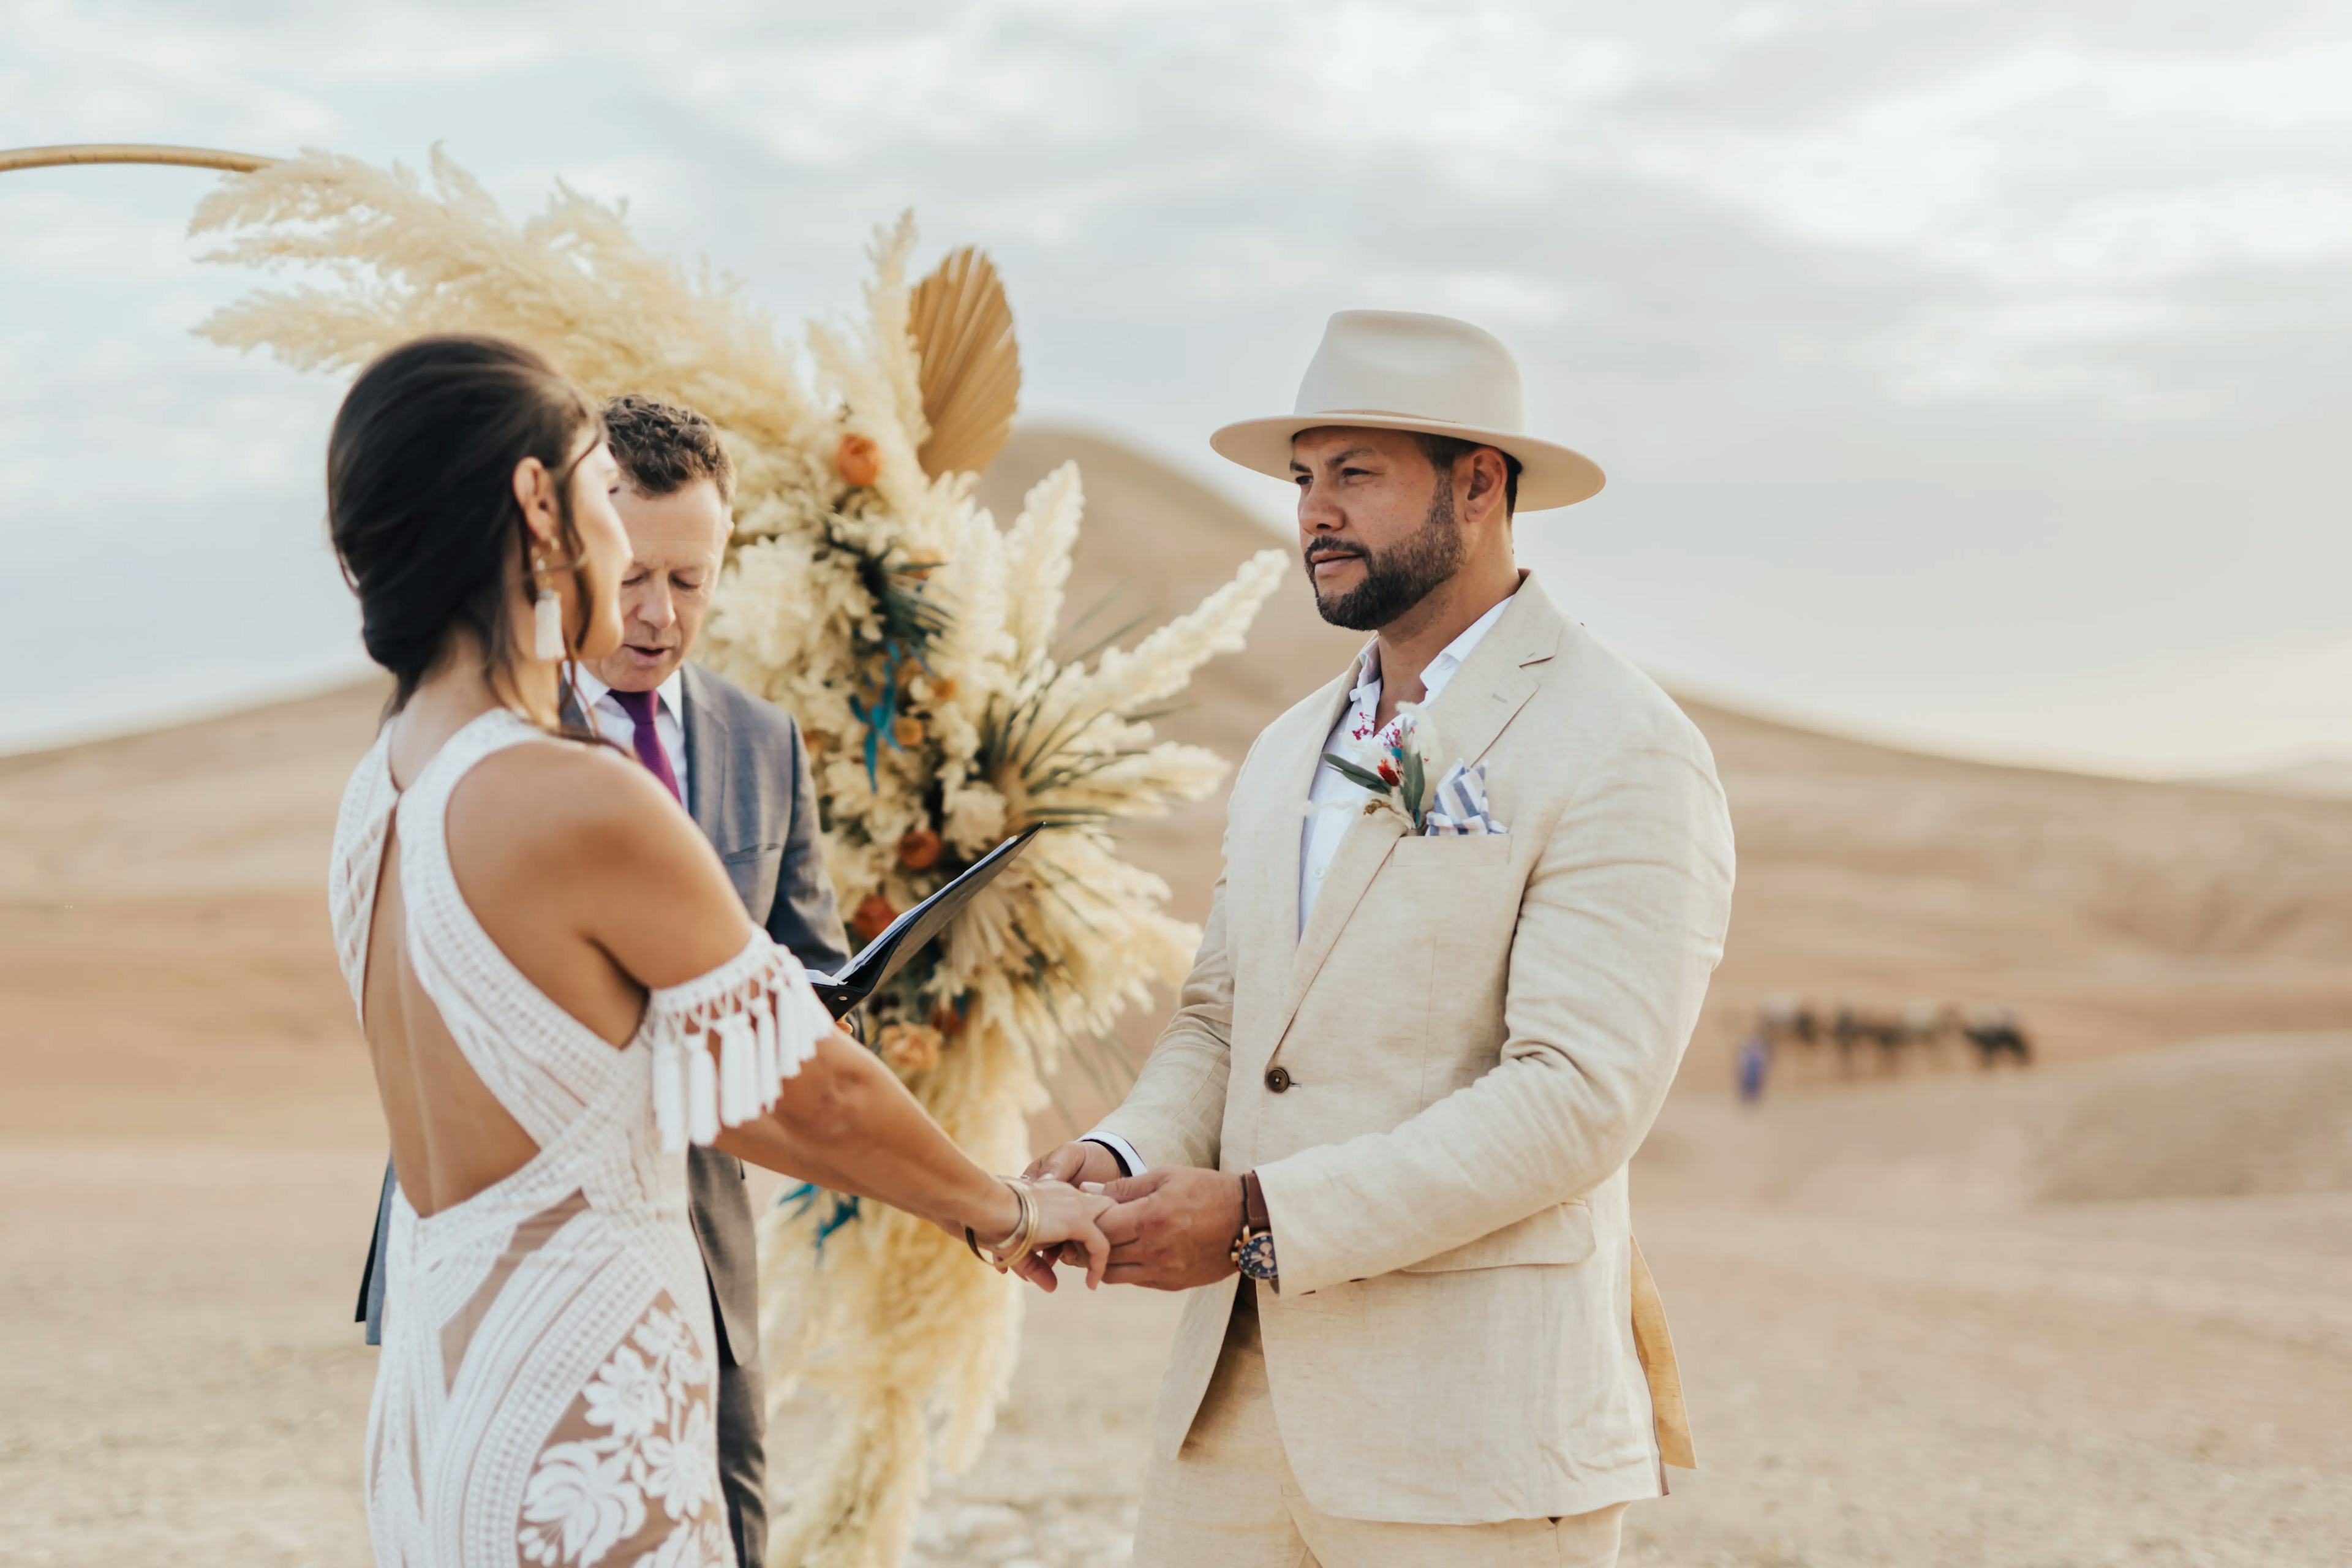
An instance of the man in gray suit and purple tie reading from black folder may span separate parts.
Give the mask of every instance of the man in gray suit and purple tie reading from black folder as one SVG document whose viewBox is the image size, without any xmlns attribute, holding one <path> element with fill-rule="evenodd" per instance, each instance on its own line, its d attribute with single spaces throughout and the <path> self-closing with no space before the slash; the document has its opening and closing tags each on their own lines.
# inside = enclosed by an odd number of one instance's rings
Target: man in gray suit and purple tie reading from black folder
<svg viewBox="0 0 2352 1568">
<path fill-rule="evenodd" d="M 811 969 L 840 969 L 847 936 L 816 846 L 816 790 L 790 715 L 687 663 L 710 609 L 727 548 L 734 463 L 701 414 L 649 397 L 604 404 L 612 456 L 626 484 L 614 508 L 628 527 L 621 583 L 623 639 L 579 672 L 588 717 L 684 802 L 710 837 L 750 917 Z M 567 705 L 564 719 L 579 710 Z M 767 1547 L 767 1408 L 760 1387 L 760 1279 L 750 1197 L 734 1154 L 687 1154 L 694 1234 L 710 1274 L 720 1335 L 720 1479 L 741 1568 Z M 383 1222 L 393 1192 L 383 1168 L 376 1244 L 360 1284 L 367 1342 L 383 1328 Z"/>
</svg>

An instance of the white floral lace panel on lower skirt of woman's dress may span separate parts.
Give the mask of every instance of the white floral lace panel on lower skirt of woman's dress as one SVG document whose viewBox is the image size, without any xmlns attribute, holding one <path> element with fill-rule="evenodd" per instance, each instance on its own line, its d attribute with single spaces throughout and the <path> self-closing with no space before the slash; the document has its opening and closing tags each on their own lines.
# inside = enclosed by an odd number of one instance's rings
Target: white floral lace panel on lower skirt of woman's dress
<svg viewBox="0 0 2352 1568">
<path fill-rule="evenodd" d="M 581 1389 L 576 1422 L 600 1432 L 539 1453 L 522 1493 L 522 1561 L 597 1568 L 640 1537 L 659 1540 L 642 1561 L 661 1568 L 731 1561 L 710 1378 L 687 1319 L 654 1307 Z"/>
</svg>

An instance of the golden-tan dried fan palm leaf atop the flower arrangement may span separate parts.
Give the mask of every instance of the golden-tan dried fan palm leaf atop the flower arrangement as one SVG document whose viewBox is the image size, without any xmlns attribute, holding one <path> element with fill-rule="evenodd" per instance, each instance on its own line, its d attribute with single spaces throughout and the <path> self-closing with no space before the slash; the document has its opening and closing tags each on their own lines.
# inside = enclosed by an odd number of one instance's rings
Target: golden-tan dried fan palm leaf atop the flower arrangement
<svg viewBox="0 0 2352 1568">
<path fill-rule="evenodd" d="M 950 252 L 915 284 L 908 331 L 922 355 L 922 416 L 931 425 L 917 454 L 934 480 L 981 473 L 1014 433 L 1021 402 L 1021 343 L 1004 280 L 981 252 Z"/>
</svg>

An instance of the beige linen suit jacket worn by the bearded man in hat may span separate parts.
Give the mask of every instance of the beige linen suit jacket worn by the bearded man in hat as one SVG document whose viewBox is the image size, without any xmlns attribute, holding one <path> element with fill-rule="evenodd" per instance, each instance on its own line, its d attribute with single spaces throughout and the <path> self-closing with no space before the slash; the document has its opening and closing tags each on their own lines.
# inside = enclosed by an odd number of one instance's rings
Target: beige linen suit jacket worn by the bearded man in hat
<svg viewBox="0 0 2352 1568">
<path fill-rule="evenodd" d="M 1430 708 L 1508 832 L 1357 816 L 1298 929 L 1308 790 L 1352 672 L 1232 785 L 1200 959 L 1103 1131 L 1150 1166 L 1258 1171 L 1282 1446 L 1343 1519 L 1491 1523 L 1663 1490 L 1691 1462 L 1625 1161 L 1731 914 L 1698 729 L 1529 576 Z M 1277 1072 L 1279 1070 L 1279 1072 Z M 1152 1441 L 1176 1458 L 1232 1312 L 1192 1293 Z"/>
</svg>

